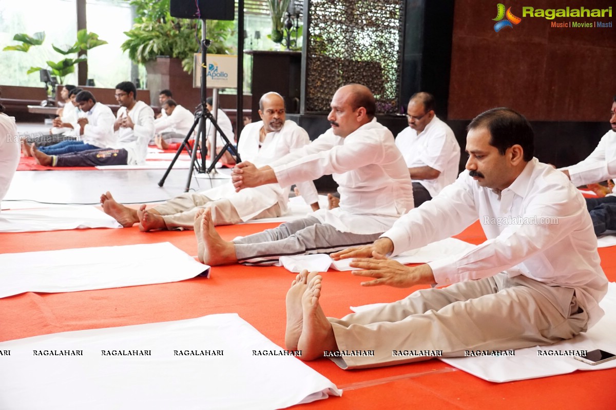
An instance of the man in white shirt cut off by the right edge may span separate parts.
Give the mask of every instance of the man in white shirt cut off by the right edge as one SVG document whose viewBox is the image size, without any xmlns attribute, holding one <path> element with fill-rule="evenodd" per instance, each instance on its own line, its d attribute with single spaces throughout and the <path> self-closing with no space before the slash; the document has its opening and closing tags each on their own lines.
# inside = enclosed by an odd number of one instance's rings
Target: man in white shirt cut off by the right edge
<svg viewBox="0 0 616 410">
<path fill-rule="evenodd" d="M 594 184 L 616 176 L 616 96 L 610 111 L 612 129 L 585 160 L 570 167 L 559 168 L 569 176 L 575 186 Z M 586 207 L 593 219 L 594 233 L 601 235 L 607 230 L 616 231 L 616 195 L 602 198 L 587 198 Z"/>
</svg>

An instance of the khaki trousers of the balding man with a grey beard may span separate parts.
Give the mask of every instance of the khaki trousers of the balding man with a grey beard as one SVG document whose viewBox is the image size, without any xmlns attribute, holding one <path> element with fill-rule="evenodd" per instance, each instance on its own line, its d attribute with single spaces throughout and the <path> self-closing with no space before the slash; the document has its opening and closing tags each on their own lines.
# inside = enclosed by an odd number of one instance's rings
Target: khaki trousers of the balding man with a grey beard
<svg viewBox="0 0 616 410">
<path fill-rule="evenodd" d="M 163 216 L 167 229 L 193 229 L 195 214 L 201 208 L 211 208 L 214 225 L 233 225 L 243 222 L 229 199 L 211 200 L 197 192 L 186 192 L 152 209 Z M 251 219 L 276 218 L 282 215 L 278 203 Z"/>
</svg>

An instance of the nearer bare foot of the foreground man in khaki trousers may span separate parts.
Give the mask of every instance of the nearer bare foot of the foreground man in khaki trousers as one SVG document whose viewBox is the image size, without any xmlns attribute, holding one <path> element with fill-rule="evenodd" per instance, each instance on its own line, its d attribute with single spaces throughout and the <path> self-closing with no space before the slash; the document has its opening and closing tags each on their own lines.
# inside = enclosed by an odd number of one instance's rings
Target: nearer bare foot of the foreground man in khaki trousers
<svg viewBox="0 0 616 410">
<path fill-rule="evenodd" d="M 314 360 L 323 357 L 323 352 L 338 350 L 330 321 L 318 303 L 321 296 L 321 275 L 313 277 L 302 295 L 302 334 L 298 340 L 301 360 Z"/>
</svg>

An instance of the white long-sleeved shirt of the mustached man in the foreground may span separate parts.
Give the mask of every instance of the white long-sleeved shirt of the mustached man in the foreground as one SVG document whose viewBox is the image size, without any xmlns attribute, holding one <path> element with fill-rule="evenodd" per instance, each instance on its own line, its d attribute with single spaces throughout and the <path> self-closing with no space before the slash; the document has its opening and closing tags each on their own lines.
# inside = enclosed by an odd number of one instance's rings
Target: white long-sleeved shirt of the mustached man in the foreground
<svg viewBox="0 0 616 410">
<path fill-rule="evenodd" d="M 488 240 L 465 254 L 430 262 L 439 285 L 499 272 L 524 275 L 574 289 L 589 327 L 602 317 L 598 303 L 607 292 L 607 278 L 582 194 L 562 172 L 536 158 L 500 195 L 464 171 L 382 236 L 394 242 L 396 255 L 456 235 L 477 218 Z"/>
</svg>

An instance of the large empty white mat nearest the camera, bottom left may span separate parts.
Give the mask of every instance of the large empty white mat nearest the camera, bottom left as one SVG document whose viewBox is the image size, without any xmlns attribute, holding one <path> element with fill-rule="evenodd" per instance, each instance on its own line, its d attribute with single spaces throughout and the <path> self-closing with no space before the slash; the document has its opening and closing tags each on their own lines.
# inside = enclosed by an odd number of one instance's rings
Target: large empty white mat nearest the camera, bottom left
<svg viewBox="0 0 616 410">
<path fill-rule="evenodd" d="M 235 313 L 0 343 L 2 409 L 276 409 L 341 395 Z M 83 356 L 34 356 L 81 350 Z M 112 350 L 150 355 L 103 356 Z M 219 350 L 223 355 L 174 355 Z"/>
</svg>

